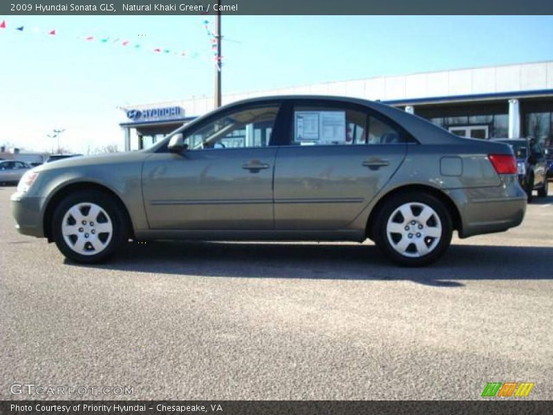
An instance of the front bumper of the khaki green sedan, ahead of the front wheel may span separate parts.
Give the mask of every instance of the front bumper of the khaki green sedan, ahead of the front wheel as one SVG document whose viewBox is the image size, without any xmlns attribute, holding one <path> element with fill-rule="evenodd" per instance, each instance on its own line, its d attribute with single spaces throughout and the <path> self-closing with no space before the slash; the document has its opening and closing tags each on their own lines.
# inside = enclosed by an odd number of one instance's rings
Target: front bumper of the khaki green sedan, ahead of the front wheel
<svg viewBox="0 0 553 415">
<path fill-rule="evenodd" d="M 37 238 L 44 237 L 42 205 L 44 205 L 44 198 L 26 197 L 21 193 L 12 194 L 10 210 L 15 219 L 15 227 L 20 234 Z"/>
</svg>

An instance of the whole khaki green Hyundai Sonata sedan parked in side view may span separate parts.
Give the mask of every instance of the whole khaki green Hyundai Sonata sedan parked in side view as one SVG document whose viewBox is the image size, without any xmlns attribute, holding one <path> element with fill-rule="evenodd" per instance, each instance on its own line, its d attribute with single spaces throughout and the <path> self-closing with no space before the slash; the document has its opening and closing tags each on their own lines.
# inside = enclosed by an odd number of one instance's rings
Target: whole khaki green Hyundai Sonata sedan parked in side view
<svg viewBox="0 0 553 415">
<path fill-rule="evenodd" d="M 149 149 L 60 160 L 11 198 L 22 234 L 73 261 L 129 239 L 375 241 L 399 264 L 523 220 L 512 149 L 385 104 L 282 96 L 221 107 Z"/>
</svg>

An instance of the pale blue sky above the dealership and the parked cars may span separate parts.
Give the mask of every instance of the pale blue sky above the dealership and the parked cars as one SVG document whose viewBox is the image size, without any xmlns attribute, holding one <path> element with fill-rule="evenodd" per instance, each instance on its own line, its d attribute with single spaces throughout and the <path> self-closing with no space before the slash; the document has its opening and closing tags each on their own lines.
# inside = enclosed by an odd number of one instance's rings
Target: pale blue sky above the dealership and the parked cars
<svg viewBox="0 0 553 415">
<path fill-rule="evenodd" d="M 122 149 L 120 107 L 212 96 L 203 19 L 0 16 L 0 145 L 50 151 L 64 129 L 70 151 Z M 223 95 L 553 60 L 553 16 L 223 15 L 222 33 Z"/>
</svg>

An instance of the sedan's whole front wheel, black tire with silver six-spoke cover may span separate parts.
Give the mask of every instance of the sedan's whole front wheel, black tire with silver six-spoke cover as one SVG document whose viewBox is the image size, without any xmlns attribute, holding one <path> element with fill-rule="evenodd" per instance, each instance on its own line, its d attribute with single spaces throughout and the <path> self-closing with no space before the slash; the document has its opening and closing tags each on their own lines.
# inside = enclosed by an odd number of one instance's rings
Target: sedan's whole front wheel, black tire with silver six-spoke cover
<svg viewBox="0 0 553 415">
<path fill-rule="evenodd" d="M 52 226 L 57 248 L 79 264 L 106 261 L 130 230 L 120 203 L 98 190 L 66 196 L 54 211 Z"/>
</svg>

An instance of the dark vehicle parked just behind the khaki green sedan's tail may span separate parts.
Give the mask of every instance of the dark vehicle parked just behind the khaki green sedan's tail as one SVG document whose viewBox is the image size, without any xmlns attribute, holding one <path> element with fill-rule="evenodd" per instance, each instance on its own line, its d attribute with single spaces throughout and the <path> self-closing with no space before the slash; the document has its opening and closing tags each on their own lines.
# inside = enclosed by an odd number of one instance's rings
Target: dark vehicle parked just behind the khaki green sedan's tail
<svg viewBox="0 0 553 415">
<path fill-rule="evenodd" d="M 518 181 L 525 190 L 528 201 L 532 201 L 534 190 L 539 197 L 546 197 L 548 191 L 547 160 L 543 148 L 527 138 L 498 138 L 512 147 L 516 157 Z"/>
</svg>

